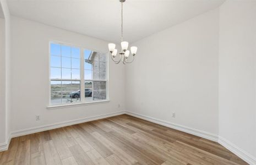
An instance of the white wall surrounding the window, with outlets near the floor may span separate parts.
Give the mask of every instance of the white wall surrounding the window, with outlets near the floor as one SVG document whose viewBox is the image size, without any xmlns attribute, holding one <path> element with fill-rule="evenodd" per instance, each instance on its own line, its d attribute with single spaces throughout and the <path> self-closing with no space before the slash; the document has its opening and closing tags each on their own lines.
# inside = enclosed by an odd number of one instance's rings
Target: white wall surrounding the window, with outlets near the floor
<svg viewBox="0 0 256 165">
<path fill-rule="evenodd" d="M 109 62 L 110 102 L 97 105 L 46 109 L 49 100 L 48 43 L 51 40 L 107 52 L 108 42 L 20 18 L 12 29 L 12 131 L 55 124 L 124 110 L 124 67 Z M 118 104 L 121 105 L 118 108 Z M 41 120 L 35 120 L 39 114 Z"/>
</svg>

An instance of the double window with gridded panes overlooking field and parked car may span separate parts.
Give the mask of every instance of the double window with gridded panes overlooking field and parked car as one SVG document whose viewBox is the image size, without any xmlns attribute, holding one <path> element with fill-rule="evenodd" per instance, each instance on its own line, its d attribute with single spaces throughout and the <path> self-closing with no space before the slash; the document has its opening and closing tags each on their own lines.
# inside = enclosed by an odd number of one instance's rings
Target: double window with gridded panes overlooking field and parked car
<svg viewBox="0 0 256 165">
<path fill-rule="evenodd" d="M 107 99 L 107 54 L 50 43 L 51 105 Z"/>
</svg>

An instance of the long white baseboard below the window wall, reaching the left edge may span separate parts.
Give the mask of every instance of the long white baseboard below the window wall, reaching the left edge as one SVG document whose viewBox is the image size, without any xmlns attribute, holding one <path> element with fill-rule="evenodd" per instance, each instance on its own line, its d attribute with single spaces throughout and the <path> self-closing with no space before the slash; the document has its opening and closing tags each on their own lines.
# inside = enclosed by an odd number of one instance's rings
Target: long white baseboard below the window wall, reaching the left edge
<svg viewBox="0 0 256 165">
<path fill-rule="evenodd" d="M 17 136 L 34 134 L 34 133 L 38 133 L 38 132 L 41 132 L 41 131 L 66 127 L 66 126 L 69 126 L 69 125 L 74 125 L 74 124 L 79 124 L 79 123 L 84 123 L 84 122 L 90 122 L 92 120 L 108 118 L 108 117 L 117 116 L 117 115 L 120 115 L 120 114 L 124 114 L 124 111 L 107 113 L 107 114 L 102 114 L 102 115 L 92 116 L 92 117 L 87 117 L 87 118 L 81 118 L 81 119 L 68 120 L 66 122 L 59 122 L 59 123 L 55 123 L 55 124 L 47 124 L 47 125 L 42 125 L 42 126 L 39 126 L 39 127 L 20 129 L 20 130 L 17 130 L 17 131 L 13 131 L 9 136 L 9 140 L 7 142 L 3 142 L 3 143 L 0 144 L 0 151 L 8 150 L 10 140 L 14 137 L 17 137 Z"/>
</svg>

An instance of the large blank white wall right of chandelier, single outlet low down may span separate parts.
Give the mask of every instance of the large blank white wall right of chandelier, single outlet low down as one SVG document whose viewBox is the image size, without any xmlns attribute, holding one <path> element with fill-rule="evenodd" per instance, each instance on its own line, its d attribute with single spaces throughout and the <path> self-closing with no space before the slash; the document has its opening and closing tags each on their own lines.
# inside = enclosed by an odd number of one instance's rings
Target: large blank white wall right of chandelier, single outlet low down
<svg viewBox="0 0 256 165">
<path fill-rule="evenodd" d="M 138 53 L 127 65 L 126 110 L 217 134 L 219 10 L 132 45 Z"/>
</svg>

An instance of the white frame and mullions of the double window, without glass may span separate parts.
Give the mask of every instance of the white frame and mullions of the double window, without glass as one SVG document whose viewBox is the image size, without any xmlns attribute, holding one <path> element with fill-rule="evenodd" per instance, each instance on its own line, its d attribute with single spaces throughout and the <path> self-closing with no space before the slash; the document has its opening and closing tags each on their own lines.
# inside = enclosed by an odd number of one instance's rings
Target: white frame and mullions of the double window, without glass
<svg viewBox="0 0 256 165">
<path fill-rule="evenodd" d="M 75 47 L 80 49 L 80 79 L 51 79 L 51 43 L 59 44 L 59 45 L 65 45 L 65 46 L 70 46 L 70 47 Z M 61 42 L 61 41 L 55 41 L 55 40 L 50 40 L 48 44 L 48 59 L 49 59 L 49 101 L 47 108 L 55 108 L 55 107 L 64 107 L 64 106 L 77 106 L 77 105 L 88 105 L 88 104 L 94 104 L 94 103 L 104 103 L 104 102 L 109 102 L 109 95 L 108 95 L 108 53 L 106 54 L 106 79 L 105 80 L 91 80 L 91 79 L 84 79 L 84 50 L 90 50 L 94 52 L 100 52 L 100 53 L 105 53 L 104 51 L 99 51 L 95 50 L 93 48 L 86 48 L 85 46 L 80 46 L 80 45 L 74 45 L 71 43 L 67 42 Z M 53 105 L 51 104 L 51 81 L 80 81 L 80 102 L 78 103 L 60 103 Z M 85 101 L 85 95 L 83 94 L 85 91 L 85 81 L 92 81 L 92 98 L 94 94 L 94 88 L 93 88 L 93 82 L 94 81 L 106 81 L 106 99 L 105 100 L 97 100 L 97 101 L 90 101 L 86 102 Z"/>
</svg>

